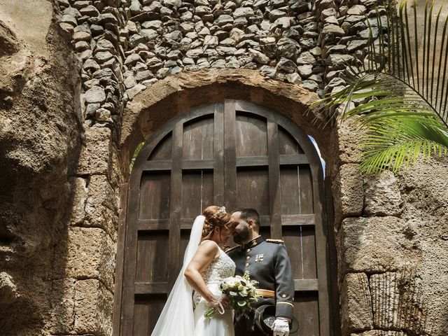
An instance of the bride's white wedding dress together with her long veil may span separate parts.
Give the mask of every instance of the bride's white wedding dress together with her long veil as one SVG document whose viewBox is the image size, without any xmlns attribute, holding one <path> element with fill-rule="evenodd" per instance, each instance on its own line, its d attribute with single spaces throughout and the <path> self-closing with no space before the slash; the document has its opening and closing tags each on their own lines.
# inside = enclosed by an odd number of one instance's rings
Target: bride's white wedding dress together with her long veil
<svg viewBox="0 0 448 336">
<path fill-rule="evenodd" d="M 183 267 L 174 283 L 167 303 L 160 314 L 151 336 L 234 336 L 233 311 L 224 314 L 216 312 L 211 318 L 204 318 L 209 309 L 207 301 L 197 296 L 193 311 L 193 288 L 183 275 L 201 241 L 204 216 L 197 216 L 190 233 L 190 241 L 183 255 Z M 221 295 L 219 285 L 223 279 L 235 275 L 235 262 L 219 248 L 219 257 L 202 271 L 207 287 L 214 295 Z"/>
</svg>

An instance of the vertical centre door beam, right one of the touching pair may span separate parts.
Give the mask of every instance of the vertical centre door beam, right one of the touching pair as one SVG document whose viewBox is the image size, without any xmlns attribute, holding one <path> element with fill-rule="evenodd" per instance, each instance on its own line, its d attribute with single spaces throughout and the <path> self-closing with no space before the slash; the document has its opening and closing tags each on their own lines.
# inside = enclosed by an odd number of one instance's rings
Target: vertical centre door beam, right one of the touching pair
<svg viewBox="0 0 448 336">
<path fill-rule="evenodd" d="M 241 203 L 237 202 L 237 130 L 235 100 L 226 100 L 224 103 L 224 195 L 225 207 L 231 211 Z"/>
</svg>

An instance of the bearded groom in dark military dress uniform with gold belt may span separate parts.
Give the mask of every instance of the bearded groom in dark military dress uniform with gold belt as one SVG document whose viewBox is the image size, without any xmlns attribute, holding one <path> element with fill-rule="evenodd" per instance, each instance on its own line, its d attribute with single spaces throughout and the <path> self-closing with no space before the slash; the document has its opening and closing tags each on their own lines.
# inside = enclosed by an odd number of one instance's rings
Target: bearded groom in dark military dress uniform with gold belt
<svg viewBox="0 0 448 336">
<path fill-rule="evenodd" d="M 228 252 L 237 265 L 235 275 L 247 270 L 251 279 L 258 281 L 260 299 L 255 304 L 275 304 L 274 336 L 288 336 L 293 318 L 294 281 L 288 253 L 283 241 L 263 239 L 260 216 L 255 209 L 239 208 L 232 212 L 235 231 L 233 240 L 239 246 Z M 235 316 L 235 336 L 264 336 L 255 326 L 255 310 L 250 319 Z"/>
</svg>

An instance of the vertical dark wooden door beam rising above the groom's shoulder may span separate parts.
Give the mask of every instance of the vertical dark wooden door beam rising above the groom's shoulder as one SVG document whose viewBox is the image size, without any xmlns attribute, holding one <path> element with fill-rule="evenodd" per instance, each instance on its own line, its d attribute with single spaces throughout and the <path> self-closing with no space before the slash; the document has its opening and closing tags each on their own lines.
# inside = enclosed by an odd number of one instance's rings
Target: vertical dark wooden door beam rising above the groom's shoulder
<svg viewBox="0 0 448 336">
<path fill-rule="evenodd" d="M 279 130 L 276 123 L 267 120 L 267 148 L 269 157 L 269 214 L 271 237 L 281 239 L 281 192 Z"/>
</svg>

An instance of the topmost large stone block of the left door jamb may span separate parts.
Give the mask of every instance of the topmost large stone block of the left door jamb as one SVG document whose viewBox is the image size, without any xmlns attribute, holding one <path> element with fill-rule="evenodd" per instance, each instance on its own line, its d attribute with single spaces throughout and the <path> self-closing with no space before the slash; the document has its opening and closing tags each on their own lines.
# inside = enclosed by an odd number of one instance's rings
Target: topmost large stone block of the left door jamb
<svg viewBox="0 0 448 336">
<path fill-rule="evenodd" d="M 89 127 L 85 130 L 85 146 L 78 161 L 78 174 L 107 175 L 111 155 L 111 130 L 106 127 Z"/>
</svg>

